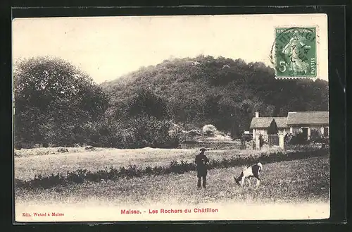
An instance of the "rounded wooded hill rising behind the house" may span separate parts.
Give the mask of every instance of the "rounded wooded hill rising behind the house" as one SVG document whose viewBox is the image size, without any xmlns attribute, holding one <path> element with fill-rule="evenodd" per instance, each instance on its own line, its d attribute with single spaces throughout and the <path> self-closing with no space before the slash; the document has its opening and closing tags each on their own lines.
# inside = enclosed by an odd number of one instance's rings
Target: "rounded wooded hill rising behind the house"
<svg viewBox="0 0 352 232">
<path fill-rule="evenodd" d="M 168 106 L 170 117 L 184 128 L 207 123 L 239 135 L 260 116 L 286 116 L 288 111 L 328 109 L 325 80 L 276 80 L 264 63 L 212 56 L 165 60 L 156 66 L 101 84 L 110 97 L 108 112 L 123 111 L 139 90 L 149 90 Z"/>
</svg>

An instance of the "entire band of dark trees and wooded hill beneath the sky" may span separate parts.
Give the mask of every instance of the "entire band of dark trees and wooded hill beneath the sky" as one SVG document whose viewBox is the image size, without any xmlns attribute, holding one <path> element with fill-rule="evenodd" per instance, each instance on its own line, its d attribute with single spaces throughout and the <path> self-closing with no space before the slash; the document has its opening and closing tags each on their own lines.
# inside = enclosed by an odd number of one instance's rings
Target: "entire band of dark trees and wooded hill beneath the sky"
<svg viewBox="0 0 352 232">
<path fill-rule="evenodd" d="M 241 138 L 255 111 L 286 116 L 327 110 L 328 102 L 325 81 L 282 82 L 263 63 L 203 55 L 163 61 L 100 86 L 67 61 L 37 57 L 15 63 L 13 81 L 16 148 L 176 147 L 181 135 L 169 133 L 172 123 L 184 130 L 213 125 Z"/>
</svg>

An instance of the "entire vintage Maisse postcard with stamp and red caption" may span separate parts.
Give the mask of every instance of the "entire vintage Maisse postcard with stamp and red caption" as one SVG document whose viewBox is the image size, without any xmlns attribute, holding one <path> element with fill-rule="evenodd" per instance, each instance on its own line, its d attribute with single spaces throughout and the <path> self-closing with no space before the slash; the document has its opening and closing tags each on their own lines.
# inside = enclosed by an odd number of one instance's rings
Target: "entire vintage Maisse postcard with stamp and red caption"
<svg viewBox="0 0 352 232">
<path fill-rule="evenodd" d="M 327 15 L 13 20 L 15 222 L 328 219 Z"/>
</svg>

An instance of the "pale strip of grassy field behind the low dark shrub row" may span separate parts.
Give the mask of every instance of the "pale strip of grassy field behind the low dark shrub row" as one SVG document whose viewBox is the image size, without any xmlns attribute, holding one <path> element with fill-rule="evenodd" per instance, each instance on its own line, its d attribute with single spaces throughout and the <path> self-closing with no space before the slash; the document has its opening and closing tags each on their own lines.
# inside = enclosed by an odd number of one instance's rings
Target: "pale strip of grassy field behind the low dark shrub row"
<svg viewBox="0 0 352 232">
<path fill-rule="evenodd" d="M 99 171 L 110 166 L 119 168 L 129 164 L 141 167 L 165 166 L 173 159 L 194 161 L 199 149 L 108 149 L 98 148 L 84 151 L 83 148 L 68 148 L 68 153 L 58 153 L 55 148 L 21 149 L 15 157 L 15 178 L 28 180 L 35 175 L 47 176 L 51 173 L 65 174 L 68 171 L 87 169 Z M 260 152 L 276 152 L 275 149 Z M 258 151 L 227 149 L 206 152 L 209 159 L 230 159 L 249 155 L 256 156 Z"/>
</svg>

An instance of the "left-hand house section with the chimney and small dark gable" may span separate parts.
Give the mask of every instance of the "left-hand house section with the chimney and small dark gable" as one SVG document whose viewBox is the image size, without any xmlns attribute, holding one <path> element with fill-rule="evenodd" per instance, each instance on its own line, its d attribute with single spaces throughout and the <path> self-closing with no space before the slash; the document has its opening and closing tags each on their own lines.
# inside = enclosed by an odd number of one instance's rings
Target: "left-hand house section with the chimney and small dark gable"
<svg viewBox="0 0 352 232">
<path fill-rule="evenodd" d="M 256 112 L 256 117 L 252 118 L 250 126 L 250 129 L 253 130 L 253 140 L 256 140 L 257 133 L 262 135 L 264 140 L 268 140 L 268 130 L 272 123 L 275 123 L 277 133 L 286 135 L 289 132 L 286 121 L 287 117 L 259 117 L 259 112 Z"/>
</svg>

